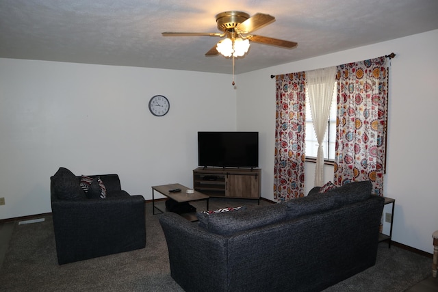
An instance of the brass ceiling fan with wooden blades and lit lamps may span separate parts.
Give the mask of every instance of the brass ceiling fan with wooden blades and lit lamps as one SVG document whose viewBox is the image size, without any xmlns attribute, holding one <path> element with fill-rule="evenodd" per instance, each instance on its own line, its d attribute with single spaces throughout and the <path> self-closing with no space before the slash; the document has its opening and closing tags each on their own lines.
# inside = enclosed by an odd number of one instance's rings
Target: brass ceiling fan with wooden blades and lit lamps
<svg viewBox="0 0 438 292">
<path fill-rule="evenodd" d="M 260 29 L 265 25 L 275 21 L 275 17 L 269 14 L 257 13 L 253 16 L 240 11 L 227 11 L 216 15 L 216 23 L 218 29 L 222 33 L 202 33 L 202 32 L 163 32 L 163 36 L 218 36 L 223 38 L 212 47 L 206 56 L 214 56 L 221 53 L 225 57 L 241 57 L 249 49 L 249 42 L 257 42 L 259 44 L 270 44 L 285 49 L 292 49 L 298 44 L 289 42 L 288 40 L 279 40 L 276 38 L 268 38 L 266 36 L 255 36 L 251 33 L 256 29 Z M 243 48 L 240 46 L 243 45 Z M 239 48 L 238 48 L 239 47 Z M 242 51 L 243 50 L 243 51 Z"/>
</svg>

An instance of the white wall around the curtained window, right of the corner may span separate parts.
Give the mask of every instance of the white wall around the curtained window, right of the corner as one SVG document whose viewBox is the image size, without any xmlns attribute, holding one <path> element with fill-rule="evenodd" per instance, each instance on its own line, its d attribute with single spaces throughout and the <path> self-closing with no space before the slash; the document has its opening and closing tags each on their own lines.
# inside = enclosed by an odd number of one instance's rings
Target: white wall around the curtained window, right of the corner
<svg viewBox="0 0 438 292">
<path fill-rule="evenodd" d="M 438 229 L 438 30 L 239 75 L 237 129 L 258 129 L 262 194 L 273 200 L 275 81 L 270 75 L 313 70 L 396 53 L 389 81 L 387 175 L 384 194 L 396 199 L 393 239 L 433 252 Z M 293 51 L 291 51 L 293 53 Z M 308 164 L 307 164 L 308 165 Z M 306 189 L 313 187 L 306 172 Z M 327 177 L 326 181 L 333 179 Z"/>
</svg>

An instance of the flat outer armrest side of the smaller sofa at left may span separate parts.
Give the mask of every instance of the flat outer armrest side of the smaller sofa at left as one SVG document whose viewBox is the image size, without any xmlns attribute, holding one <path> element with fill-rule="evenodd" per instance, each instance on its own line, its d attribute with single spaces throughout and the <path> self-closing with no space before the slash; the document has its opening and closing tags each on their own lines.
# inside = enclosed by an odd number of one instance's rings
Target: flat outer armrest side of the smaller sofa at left
<svg viewBox="0 0 438 292">
<path fill-rule="evenodd" d="M 144 198 L 56 200 L 52 198 L 58 263 L 144 248 Z"/>
</svg>

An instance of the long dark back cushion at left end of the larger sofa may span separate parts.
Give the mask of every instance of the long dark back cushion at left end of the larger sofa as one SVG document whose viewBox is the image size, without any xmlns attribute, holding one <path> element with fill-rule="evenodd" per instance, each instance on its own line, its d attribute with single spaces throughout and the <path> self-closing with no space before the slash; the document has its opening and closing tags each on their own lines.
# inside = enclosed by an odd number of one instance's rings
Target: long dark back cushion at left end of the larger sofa
<svg viewBox="0 0 438 292">
<path fill-rule="evenodd" d="M 284 220 L 286 215 L 284 203 L 210 215 L 196 213 L 199 226 L 219 235 L 232 235 L 243 230 L 273 224 Z"/>
</svg>

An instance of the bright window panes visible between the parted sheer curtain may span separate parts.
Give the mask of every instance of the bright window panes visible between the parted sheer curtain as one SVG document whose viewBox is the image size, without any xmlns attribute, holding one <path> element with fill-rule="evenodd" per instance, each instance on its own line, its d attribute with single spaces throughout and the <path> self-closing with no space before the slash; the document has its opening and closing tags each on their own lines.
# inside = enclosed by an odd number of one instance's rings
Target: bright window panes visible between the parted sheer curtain
<svg viewBox="0 0 438 292">
<path fill-rule="evenodd" d="M 337 114 L 337 83 L 333 87 L 333 98 L 330 107 L 330 116 L 327 120 L 327 129 L 324 135 L 323 147 L 324 160 L 335 161 L 335 142 L 336 142 L 336 114 Z M 316 158 L 318 155 L 318 140 L 316 139 L 315 129 L 310 110 L 309 95 L 306 92 L 306 157 Z"/>
</svg>

